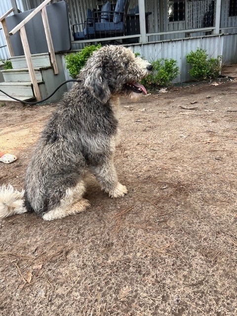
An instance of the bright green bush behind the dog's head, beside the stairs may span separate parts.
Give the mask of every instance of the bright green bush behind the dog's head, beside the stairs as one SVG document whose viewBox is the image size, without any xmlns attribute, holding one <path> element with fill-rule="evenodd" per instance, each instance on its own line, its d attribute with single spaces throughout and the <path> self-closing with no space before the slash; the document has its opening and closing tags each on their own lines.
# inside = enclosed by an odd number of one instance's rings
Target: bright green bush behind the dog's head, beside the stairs
<svg viewBox="0 0 237 316">
<path fill-rule="evenodd" d="M 92 55 L 93 51 L 99 49 L 101 44 L 85 46 L 77 53 L 71 53 L 65 56 L 66 67 L 69 70 L 70 76 L 77 78 L 80 70 L 86 64 L 87 59 Z"/>
</svg>

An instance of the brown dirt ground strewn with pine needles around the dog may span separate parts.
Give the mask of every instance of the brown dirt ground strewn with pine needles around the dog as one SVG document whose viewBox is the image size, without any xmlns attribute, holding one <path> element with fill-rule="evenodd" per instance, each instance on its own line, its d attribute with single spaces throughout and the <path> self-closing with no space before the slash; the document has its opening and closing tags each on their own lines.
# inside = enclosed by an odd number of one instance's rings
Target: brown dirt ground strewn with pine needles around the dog
<svg viewBox="0 0 237 316">
<path fill-rule="evenodd" d="M 24 186 L 56 105 L 0 107 L 0 184 Z M 124 198 L 92 176 L 91 208 L 0 222 L 0 315 L 236 316 L 237 81 L 121 100 Z"/>
</svg>

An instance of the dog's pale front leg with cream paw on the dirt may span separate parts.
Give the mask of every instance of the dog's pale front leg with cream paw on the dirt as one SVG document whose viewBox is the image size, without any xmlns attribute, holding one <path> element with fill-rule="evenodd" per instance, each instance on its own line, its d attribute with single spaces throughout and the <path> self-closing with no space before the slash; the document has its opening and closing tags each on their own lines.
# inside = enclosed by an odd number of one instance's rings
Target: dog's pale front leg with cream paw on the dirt
<svg viewBox="0 0 237 316">
<path fill-rule="evenodd" d="M 118 182 L 113 158 L 100 166 L 93 166 L 91 171 L 99 181 L 102 190 L 110 197 L 123 197 L 127 193 L 127 188 Z"/>
</svg>

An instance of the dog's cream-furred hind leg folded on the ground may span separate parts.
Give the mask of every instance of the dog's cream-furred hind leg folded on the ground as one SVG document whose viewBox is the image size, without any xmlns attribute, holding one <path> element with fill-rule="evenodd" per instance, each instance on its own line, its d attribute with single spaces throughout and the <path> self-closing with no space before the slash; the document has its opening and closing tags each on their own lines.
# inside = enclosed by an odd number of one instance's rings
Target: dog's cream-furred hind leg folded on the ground
<svg viewBox="0 0 237 316">
<path fill-rule="evenodd" d="M 82 198 L 84 191 L 85 187 L 82 181 L 76 187 L 68 188 L 60 201 L 60 205 L 44 213 L 42 218 L 46 221 L 52 221 L 83 212 L 90 206 L 89 201 Z"/>
</svg>

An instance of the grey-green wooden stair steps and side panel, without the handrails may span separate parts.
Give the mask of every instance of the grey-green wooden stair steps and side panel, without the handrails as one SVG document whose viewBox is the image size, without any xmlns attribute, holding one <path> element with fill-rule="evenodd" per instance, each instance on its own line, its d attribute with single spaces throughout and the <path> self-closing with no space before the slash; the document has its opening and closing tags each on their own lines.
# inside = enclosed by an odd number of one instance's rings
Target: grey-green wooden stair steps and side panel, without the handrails
<svg viewBox="0 0 237 316">
<path fill-rule="evenodd" d="M 41 99 L 49 96 L 57 86 L 65 80 L 62 59 L 57 55 L 56 59 L 58 67 L 60 68 L 60 72 L 57 75 L 54 74 L 48 53 L 32 55 L 32 62 L 40 88 Z M 1 70 L 4 81 L 0 82 L 0 90 L 22 101 L 35 101 L 36 96 L 34 94 L 25 56 L 10 57 L 10 60 L 12 69 Z M 67 91 L 66 84 L 47 100 L 46 103 L 57 101 L 65 91 Z M 0 91 L 0 102 L 3 101 L 16 102 Z"/>
</svg>

